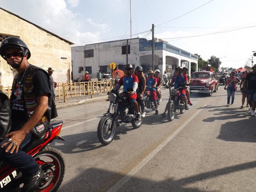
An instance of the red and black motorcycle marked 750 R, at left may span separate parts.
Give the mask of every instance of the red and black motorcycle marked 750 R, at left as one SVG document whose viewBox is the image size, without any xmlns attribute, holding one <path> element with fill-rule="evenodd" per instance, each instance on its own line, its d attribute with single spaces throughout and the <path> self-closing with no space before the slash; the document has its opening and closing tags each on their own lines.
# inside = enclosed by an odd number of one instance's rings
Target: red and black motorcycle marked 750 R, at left
<svg viewBox="0 0 256 192">
<path fill-rule="evenodd" d="M 48 131 L 40 139 L 24 147 L 24 151 L 31 155 L 44 170 L 44 176 L 36 192 L 56 192 L 62 183 L 65 172 L 64 158 L 58 149 L 48 146 L 55 139 L 64 140 L 59 136 L 62 124 L 62 121 L 50 122 Z M 18 169 L 0 162 L 1 192 L 20 192 L 24 181 L 25 178 Z"/>
</svg>

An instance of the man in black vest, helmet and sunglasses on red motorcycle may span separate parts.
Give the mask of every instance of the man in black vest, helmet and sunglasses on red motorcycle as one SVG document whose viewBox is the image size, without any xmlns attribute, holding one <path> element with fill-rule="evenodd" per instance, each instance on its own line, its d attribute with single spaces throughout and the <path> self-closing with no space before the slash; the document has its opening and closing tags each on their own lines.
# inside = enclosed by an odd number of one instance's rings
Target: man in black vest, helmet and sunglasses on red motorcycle
<svg viewBox="0 0 256 192">
<path fill-rule="evenodd" d="M 22 148 L 35 136 L 42 136 L 51 118 L 57 116 L 56 108 L 52 112 L 52 106 L 55 105 L 52 105 L 49 75 L 43 69 L 29 64 L 30 50 L 20 38 L 4 39 L 0 54 L 18 71 L 10 97 L 12 127 L 0 144 L 0 160 L 18 168 L 26 177 L 22 192 L 34 192 L 44 171 Z"/>
</svg>

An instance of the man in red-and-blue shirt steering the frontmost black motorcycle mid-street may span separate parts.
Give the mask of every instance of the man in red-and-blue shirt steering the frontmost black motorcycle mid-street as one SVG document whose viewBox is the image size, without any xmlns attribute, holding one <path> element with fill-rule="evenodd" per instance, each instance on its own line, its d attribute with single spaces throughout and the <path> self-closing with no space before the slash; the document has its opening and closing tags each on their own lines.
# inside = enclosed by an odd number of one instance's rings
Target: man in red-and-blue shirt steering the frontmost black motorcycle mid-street
<svg viewBox="0 0 256 192">
<path fill-rule="evenodd" d="M 134 110 L 136 111 L 136 120 L 141 120 L 141 114 L 139 111 L 139 106 L 138 102 L 136 101 L 137 99 L 137 94 L 136 90 L 138 88 L 138 77 L 136 75 L 132 75 L 132 65 L 127 64 L 124 68 L 125 70 L 125 76 L 121 77 L 119 80 L 118 84 L 114 86 L 113 90 L 118 90 L 122 85 L 124 85 L 124 92 L 128 92 L 128 97 L 130 99 L 130 102 L 132 103 L 132 106 Z M 132 91 L 129 91 L 129 89 L 132 89 Z"/>
</svg>

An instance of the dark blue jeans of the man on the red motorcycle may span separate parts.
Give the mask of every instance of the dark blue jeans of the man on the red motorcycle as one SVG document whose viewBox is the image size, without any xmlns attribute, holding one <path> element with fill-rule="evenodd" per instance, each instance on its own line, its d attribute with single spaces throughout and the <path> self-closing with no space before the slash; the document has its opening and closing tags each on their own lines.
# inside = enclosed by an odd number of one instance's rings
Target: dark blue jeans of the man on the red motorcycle
<svg viewBox="0 0 256 192">
<path fill-rule="evenodd" d="M 17 128 L 16 130 L 19 130 L 19 128 Z M 5 150 L 8 147 L 8 145 L 5 146 L 4 148 L 0 148 L 0 161 L 9 164 L 12 167 L 18 168 L 26 177 L 32 177 L 36 175 L 39 169 L 39 165 L 37 164 L 36 160 L 34 160 L 30 155 L 26 154 L 26 152 L 21 150 L 22 148 L 24 148 L 24 146 L 26 146 L 26 144 L 30 142 L 31 138 L 31 132 L 26 134 L 24 140 L 20 144 L 20 148 L 17 153 L 6 153 Z M 0 146 L 3 143 L 4 142 L 0 142 Z"/>
</svg>

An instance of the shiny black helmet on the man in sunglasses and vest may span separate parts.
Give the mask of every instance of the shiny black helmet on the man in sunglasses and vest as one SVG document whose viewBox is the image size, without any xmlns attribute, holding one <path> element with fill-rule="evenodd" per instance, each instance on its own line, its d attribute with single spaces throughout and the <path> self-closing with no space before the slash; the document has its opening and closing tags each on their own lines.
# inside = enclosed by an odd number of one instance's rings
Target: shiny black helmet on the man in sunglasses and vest
<svg viewBox="0 0 256 192">
<path fill-rule="evenodd" d="M 0 55 L 2 56 L 2 58 L 4 58 L 6 60 L 6 58 L 4 57 L 5 52 L 7 49 L 9 48 L 19 48 L 22 50 L 22 55 L 26 56 L 26 54 L 28 54 L 28 58 L 30 58 L 31 54 L 30 54 L 30 50 L 28 49 L 28 46 L 26 45 L 26 43 L 24 43 L 24 41 L 22 41 L 20 38 L 18 37 L 8 37 L 5 38 L 0 46 Z"/>
</svg>

